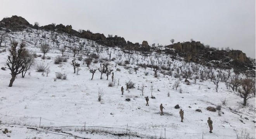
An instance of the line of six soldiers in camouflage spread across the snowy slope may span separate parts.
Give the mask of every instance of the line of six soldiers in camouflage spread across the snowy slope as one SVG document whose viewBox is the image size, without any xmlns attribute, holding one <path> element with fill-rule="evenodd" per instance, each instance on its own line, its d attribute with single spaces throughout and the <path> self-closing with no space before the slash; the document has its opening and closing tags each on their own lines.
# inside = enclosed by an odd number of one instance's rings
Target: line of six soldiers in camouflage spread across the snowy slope
<svg viewBox="0 0 256 139">
<path fill-rule="evenodd" d="M 128 90 L 128 83 L 126 84 L 126 90 Z M 121 92 L 122 92 L 122 95 L 124 94 L 124 88 L 123 88 L 123 86 L 121 87 Z M 145 97 L 146 98 L 146 106 L 149 106 L 149 97 Z M 163 114 L 163 104 L 161 103 L 160 104 L 160 111 L 161 111 L 161 113 L 160 113 L 160 115 L 164 115 Z M 164 108 L 165 109 L 165 108 Z M 180 109 L 180 112 L 179 112 L 179 114 L 180 114 L 180 118 L 181 118 L 181 121 L 180 122 L 183 122 L 183 119 L 184 119 L 184 117 L 183 117 L 183 115 L 184 115 L 184 111 L 182 110 L 182 109 Z M 209 128 L 210 128 L 210 133 L 212 133 L 212 130 L 213 130 L 213 121 L 211 120 L 211 117 L 208 117 L 208 120 L 207 120 L 207 122 L 208 122 L 208 125 L 209 125 Z"/>
</svg>

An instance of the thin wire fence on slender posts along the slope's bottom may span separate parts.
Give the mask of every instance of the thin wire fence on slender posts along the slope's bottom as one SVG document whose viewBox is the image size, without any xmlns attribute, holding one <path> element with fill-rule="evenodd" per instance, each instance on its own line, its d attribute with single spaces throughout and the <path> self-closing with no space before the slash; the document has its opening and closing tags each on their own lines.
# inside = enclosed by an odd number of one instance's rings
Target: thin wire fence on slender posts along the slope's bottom
<svg viewBox="0 0 256 139">
<path fill-rule="evenodd" d="M 69 128 L 75 131 L 90 131 L 90 130 L 98 130 L 98 131 L 109 131 L 109 132 L 119 132 L 124 134 L 140 134 L 141 136 L 153 136 L 156 138 L 162 139 L 181 139 L 181 137 L 187 137 L 192 139 L 208 139 L 208 138 L 223 138 L 223 139 L 238 139 L 238 135 L 234 133 L 233 135 L 223 135 L 223 134 L 215 134 L 215 133 L 205 133 L 205 132 L 178 132 L 178 131 L 171 131 L 167 128 L 159 129 L 157 127 L 150 127 L 150 128 L 142 128 L 142 127 L 134 127 L 131 124 L 125 125 L 102 125 L 102 124 L 93 124 L 89 122 L 66 122 L 66 121 L 59 121 L 59 120 L 51 120 L 45 119 L 42 117 L 30 117 L 30 116 L 11 116 L 0 114 L 0 119 L 5 119 L 6 117 L 14 117 L 19 118 L 18 120 L 11 120 L 10 121 L 2 121 L 3 124 L 10 124 L 10 125 L 23 125 L 23 126 L 30 126 L 30 127 L 40 127 L 43 129 L 62 129 L 62 128 Z M 25 119 L 29 120 L 26 121 Z M 52 126 L 54 123 L 52 122 L 59 122 L 65 123 L 68 125 L 60 125 L 60 126 Z M 40 131 L 41 132 L 41 131 Z M 47 132 L 47 131 L 42 131 Z M 51 132 L 49 132 L 51 133 Z M 154 133 L 154 134 L 152 134 Z M 54 133 L 53 133 L 54 134 Z M 255 134 L 253 132 L 245 132 L 245 134 Z"/>
</svg>

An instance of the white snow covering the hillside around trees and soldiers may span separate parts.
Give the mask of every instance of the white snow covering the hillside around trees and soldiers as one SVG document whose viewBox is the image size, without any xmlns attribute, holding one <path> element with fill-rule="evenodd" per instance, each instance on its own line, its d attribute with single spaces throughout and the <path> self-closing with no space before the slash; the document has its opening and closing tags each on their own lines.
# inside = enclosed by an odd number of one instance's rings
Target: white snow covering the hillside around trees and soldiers
<svg viewBox="0 0 256 139">
<path fill-rule="evenodd" d="M 24 39 L 24 32 L 9 34 L 9 37 L 17 41 L 21 40 Z M 36 30 L 31 30 L 26 37 L 35 39 L 35 32 Z M 5 38 L 6 47 L 0 47 L 0 50 L 5 48 L 8 50 L 9 37 Z M 45 39 L 47 40 L 50 39 Z M 61 39 L 59 41 L 63 43 Z M 80 41 L 88 42 L 86 39 Z M 32 52 L 37 55 L 42 54 L 39 44 L 34 46 L 33 41 L 26 44 Z M 51 45 L 50 41 L 49 44 Z M 90 45 L 88 43 L 88 46 Z M 116 57 L 118 50 L 118 48 L 109 49 L 112 51 L 111 58 Z M 6 67 L 8 54 L 8 51 L 0 53 L 1 67 Z M 242 98 L 232 90 L 226 89 L 223 82 L 220 82 L 219 90 L 216 92 L 215 85 L 209 79 L 203 82 L 198 80 L 197 83 L 189 80 L 191 85 L 186 85 L 185 79 L 182 79 L 181 87 L 175 90 L 172 86 L 179 80 L 178 78 L 169 75 L 164 77 L 161 73 L 158 73 L 159 77 L 155 78 L 154 71 L 150 68 L 146 70 L 139 68 L 137 74 L 135 72 L 130 74 L 125 66 L 116 65 L 118 61 L 125 61 L 126 55 L 122 56 L 121 60 L 117 58 L 109 62 L 109 68 L 113 70 L 114 79 L 116 79 L 116 84 L 109 87 L 112 74 L 109 75 L 108 80 L 103 74 L 103 79 L 100 80 L 100 72 L 96 71 L 91 80 L 92 73 L 89 69 L 100 68 L 100 63 L 92 63 L 88 68 L 83 61 L 76 60 L 81 66 L 81 71 L 76 75 L 73 73 L 71 62 L 73 54 L 67 52 L 64 54 L 69 59 L 61 64 L 54 64 L 55 57 L 61 56 L 56 48 L 46 54 L 51 59 L 36 58 L 36 63 L 44 63 L 50 67 L 49 75 L 46 76 L 44 73 L 45 76 L 43 76 L 42 72 L 37 72 L 36 66 L 33 66 L 29 71 L 30 74 L 26 73 L 25 78 L 19 75 L 12 87 L 8 87 L 10 71 L 0 70 L 0 120 L 2 123 L 0 129 L 11 131 L 6 134 L 1 132 L 1 139 L 73 139 L 74 136 L 91 139 L 161 137 L 201 139 L 202 136 L 204 139 L 236 139 L 237 134 L 241 135 L 242 131 L 255 138 L 255 123 L 252 122 L 255 121 L 255 97 L 249 98 L 247 106 L 243 107 Z M 109 55 L 105 51 L 100 54 L 100 57 L 108 58 Z M 154 56 L 151 57 L 154 59 Z M 86 55 L 83 55 L 83 58 L 86 58 Z M 161 58 L 165 59 L 165 56 Z M 149 58 L 140 59 L 138 63 L 147 63 L 147 61 Z M 173 63 L 180 64 L 180 61 L 175 60 Z M 127 66 L 133 68 L 135 64 Z M 117 71 L 118 68 L 121 71 Z M 54 81 L 55 73 L 58 72 L 67 75 L 67 80 Z M 145 72 L 149 72 L 149 75 L 146 76 Z M 173 75 L 174 73 L 175 71 Z M 135 88 L 125 90 L 124 95 L 121 95 L 121 86 L 126 89 L 125 83 L 129 80 L 135 83 Z M 144 95 L 139 90 L 142 83 L 146 86 Z M 145 96 L 151 96 L 151 85 L 154 86 L 152 95 L 156 99 L 149 98 L 149 106 L 146 106 Z M 98 101 L 99 88 L 104 92 L 100 102 Z M 167 95 L 168 92 L 170 97 Z M 130 98 L 131 101 L 125 101 L 126 98 Z M 221 105 L 221 100 L 225 98 L 227 105 L 222 105 L 221 112 L 224 114 L 221 116 L 218 112 L 206 110 L 208 106 Z M 163 116 L 160 115 L 159 110 L 161 103 L 165 108 Z M 180 109 L 174 108 L 177 104 L 184 110 L 184 122 L 180 122 Z M 228 107 L 237 112 L 232 112 Z M 201 109 L 202 112 L 197 112 L 196 109 Z M 208 117 L 213 120 L 212 134 L 209 133 Z"/>
</svg>

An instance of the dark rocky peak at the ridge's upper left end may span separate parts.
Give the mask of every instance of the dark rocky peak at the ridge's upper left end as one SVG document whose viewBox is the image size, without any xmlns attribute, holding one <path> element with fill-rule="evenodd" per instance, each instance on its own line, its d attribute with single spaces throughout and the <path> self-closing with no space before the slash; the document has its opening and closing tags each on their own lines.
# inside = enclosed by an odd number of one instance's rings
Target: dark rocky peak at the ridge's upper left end
<svg viewBox="0 0 256 139">
<path fill-rule="evenodd" d="M 26 26 L 32 26 L 29 22 L 23 17 L 18 17 L 17 15 L 13 15 L 12 17 L 4 18 L 0 22 L 0 26 L 10 28 L 26 28 Z"/>
</svg>

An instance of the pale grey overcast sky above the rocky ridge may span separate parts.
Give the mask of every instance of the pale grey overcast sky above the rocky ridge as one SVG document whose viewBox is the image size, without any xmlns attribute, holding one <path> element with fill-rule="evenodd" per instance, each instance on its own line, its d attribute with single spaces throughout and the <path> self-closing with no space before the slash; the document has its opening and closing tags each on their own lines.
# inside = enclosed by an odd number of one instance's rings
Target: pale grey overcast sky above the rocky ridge
<svg viewBox="0 0 256 139">
<path fill-rule="evenodd" d="M 255 58 L 255 0 L 1 0 L 0 20 L 72 25 L 149 44 L 200 41 Z"/>
</svg>

